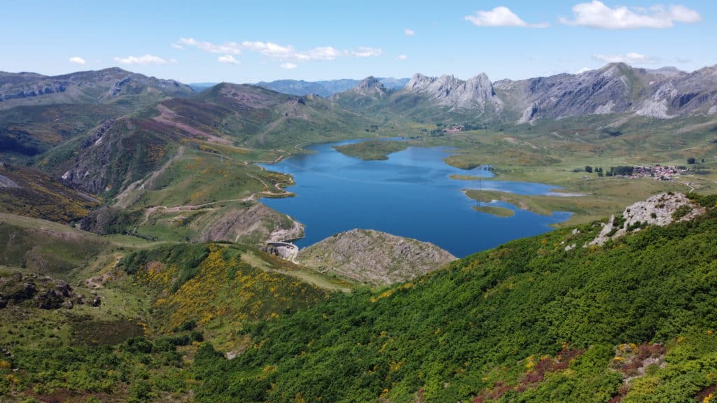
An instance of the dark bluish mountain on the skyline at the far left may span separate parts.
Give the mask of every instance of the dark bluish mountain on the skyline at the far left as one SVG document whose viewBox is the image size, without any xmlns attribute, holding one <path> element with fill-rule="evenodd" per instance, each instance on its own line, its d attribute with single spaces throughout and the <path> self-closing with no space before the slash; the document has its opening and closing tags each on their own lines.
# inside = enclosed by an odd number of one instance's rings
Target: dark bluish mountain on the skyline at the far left
<svg viewBox="0 0 717 403">
<path fill-rule="evenodd" d="M 193 93 L 119 68 L 52 77 L 0 72 L 0 155 L 22 162 L 105 120 Z"/>
</svg>

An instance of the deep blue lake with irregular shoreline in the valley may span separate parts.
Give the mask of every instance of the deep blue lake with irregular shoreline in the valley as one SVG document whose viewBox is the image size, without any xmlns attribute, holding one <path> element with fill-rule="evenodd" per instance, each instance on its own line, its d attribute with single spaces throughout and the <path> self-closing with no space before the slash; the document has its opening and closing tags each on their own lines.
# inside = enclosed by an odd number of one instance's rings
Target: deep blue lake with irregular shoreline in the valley
<svg viewBox="0 0 717 403">
<path fill-rule="evenodd" d="M 541 234 L 550 224 L 563 222 L 570 213 L 546 217 L 508 207 L 516 214 L 501 218 L 476 212 L 476 201 L 461 189 L 549 194 L 556 186 L 509 181 L 460 181 L 452 174 L 490 177 L 481 167 L 466 171 L 447 165 L 449 148 L 410 147 L 389 155 L 386 161 L 362 161 L 344 156 L 331 146 L 307 147 L 311 154 L 290 156 L 263 165 L 265 169 L 294 176 L 288 188 L 296 196 L 262 199 L 269 207 L 306 224 L 305 237 L 295 242 L 307 247 L 337 232 L 353 228 L 377 229 L 402 237 L 432 242 L 457 257 L 498 246 L 509 240 Z M 483 204 L 485 205 L 485 203 Z"/>
</svg>

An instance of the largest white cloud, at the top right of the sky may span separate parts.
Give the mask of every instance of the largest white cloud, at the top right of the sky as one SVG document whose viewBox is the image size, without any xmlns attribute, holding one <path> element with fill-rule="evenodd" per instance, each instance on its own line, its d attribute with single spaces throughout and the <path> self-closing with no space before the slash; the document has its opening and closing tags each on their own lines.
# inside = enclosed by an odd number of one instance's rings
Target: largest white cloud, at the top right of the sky
<svg viewBox="0 0 717 403">
<path fill-rule="evenodd" d="M 651 6 L 645 8 L 627 8 L 616 6 L 610 8 L 602 1 L 579 3 L 573 6 L 574 19 L 561 18 L 567 25 L 602 29 L 634 29 L 634 28 L 669 28 L 675 22 L 700 22 L 700 14 L 685 6 Z"/>
</svg>

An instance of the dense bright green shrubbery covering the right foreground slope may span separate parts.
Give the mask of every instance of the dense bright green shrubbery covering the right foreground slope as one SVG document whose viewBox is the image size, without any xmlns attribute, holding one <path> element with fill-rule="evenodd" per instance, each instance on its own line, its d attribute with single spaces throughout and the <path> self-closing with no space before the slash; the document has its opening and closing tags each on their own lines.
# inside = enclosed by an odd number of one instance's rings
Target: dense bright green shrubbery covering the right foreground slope
<svg viewBox="0 0 717 403">
<path fill-rule="evenodd" d="M 382 293 L 336 295 L 257 324 L 255 345 L 232 361 L 197 359 L 196 398 L 693 401 L 717 384 L 708 376 L 717 374 L 716 215 L 569 252 L 561 242 L 584 245 L 597 227 L 558 230 Z M 645 342 L 665 343 L 668 365 L 622 388 L 615 348 Z M 562 362 L 566 348 L 579 353 Z M 532 357 L 542 357 L 536 369 Z M 536 378 L 538 366 L 546 373 Z"/>
</svg>

